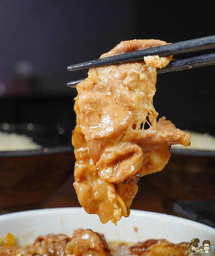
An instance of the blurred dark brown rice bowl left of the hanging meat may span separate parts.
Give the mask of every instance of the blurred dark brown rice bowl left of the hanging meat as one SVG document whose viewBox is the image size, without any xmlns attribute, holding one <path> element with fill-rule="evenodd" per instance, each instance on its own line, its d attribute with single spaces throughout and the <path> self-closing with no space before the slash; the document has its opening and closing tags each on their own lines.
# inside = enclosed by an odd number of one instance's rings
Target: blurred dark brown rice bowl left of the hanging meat
<svg viewBox="0 0 215 256">
<path fill-rule="evenodd" d="M 0 124 L 0 130 L 26 134 L 43 146 L 0 152 L 0 212 L 38 208 L 74 171 L 71 130 L 27 123 Z"/>
</svg>

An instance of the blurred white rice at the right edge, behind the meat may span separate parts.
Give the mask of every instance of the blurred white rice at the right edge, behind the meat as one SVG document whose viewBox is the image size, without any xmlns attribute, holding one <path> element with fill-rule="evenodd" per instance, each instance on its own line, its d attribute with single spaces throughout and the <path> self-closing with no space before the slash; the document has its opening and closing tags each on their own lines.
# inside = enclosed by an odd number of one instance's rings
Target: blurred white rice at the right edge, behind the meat
<svg viewBox="0 0 215 256">
<path fill-rule="evenodd" d="M 215 150 L 215 137 L 208 133 L 185 131 L 191 135 L 190 146 L 172 145 L 171 149 Z"/>
</svg>

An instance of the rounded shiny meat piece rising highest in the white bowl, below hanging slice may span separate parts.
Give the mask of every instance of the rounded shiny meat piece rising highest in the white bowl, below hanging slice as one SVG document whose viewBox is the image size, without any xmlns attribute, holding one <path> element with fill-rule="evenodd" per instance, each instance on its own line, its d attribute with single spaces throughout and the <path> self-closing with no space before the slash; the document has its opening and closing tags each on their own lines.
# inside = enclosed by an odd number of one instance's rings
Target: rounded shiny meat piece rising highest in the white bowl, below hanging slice
<svg viewBox="0 0 215 256">
<path fill-rule="evenodd" d="M 74 246 L 74 255 L 110 256 L 111 254 L 104 237 L 87 229 L 78 235 Z"/>
</svg>

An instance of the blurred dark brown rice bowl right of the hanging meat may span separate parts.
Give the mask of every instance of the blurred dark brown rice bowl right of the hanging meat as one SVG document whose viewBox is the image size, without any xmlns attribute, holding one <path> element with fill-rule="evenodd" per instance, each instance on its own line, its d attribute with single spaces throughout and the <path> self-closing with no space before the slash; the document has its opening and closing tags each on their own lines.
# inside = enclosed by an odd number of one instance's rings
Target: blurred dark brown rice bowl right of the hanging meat
<svg viewBox="0 0 215 256">
<path fill-rule="evenodd" d="M 213 123 L 180 123 L 176 126 L 186 131 L 215 136 Z M 192 134 L 192 133 L 191 133 Z M 191 145 L 192 145 L 191 136 Z M 177 149 L 171 146 L 171 157 L 162 172 L 144 176 L 142 182 L 150 186 L 164 200 L 166 209 L 172 212 L 176 200 L 215 200 L 215 150 Z"/>
</svg>

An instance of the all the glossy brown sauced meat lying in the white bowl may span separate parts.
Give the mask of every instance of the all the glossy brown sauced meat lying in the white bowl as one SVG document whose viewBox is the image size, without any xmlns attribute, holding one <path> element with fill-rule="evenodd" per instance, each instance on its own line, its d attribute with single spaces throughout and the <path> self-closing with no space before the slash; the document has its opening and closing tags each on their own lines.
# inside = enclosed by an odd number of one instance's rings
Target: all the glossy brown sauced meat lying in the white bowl
<svg viewBox="0 0 215 256">
<path fill-rule="evenodd" d="M 33 245 L 0 246 L 0 256 L 182 256 L 186 243 L 173 244 L 165 239 L 147 240 L 129 246 L 111 242 L 111 251 L 104 236 L 90 229 L 78 229 L 69 238 L 64 234 L 39 236 Z"/>
</svg>

